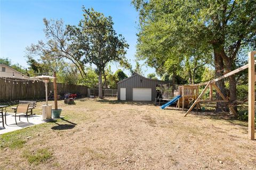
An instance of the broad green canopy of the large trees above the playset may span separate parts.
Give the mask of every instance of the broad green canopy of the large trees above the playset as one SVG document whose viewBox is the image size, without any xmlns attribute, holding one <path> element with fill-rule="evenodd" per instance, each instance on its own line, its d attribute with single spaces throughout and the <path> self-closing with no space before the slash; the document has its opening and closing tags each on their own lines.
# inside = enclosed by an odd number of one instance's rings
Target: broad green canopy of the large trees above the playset
<svg viewBox="0 0 256 170">
<path fill-rule="evenodd" d="M 161 76 L 167 72 L 190 83 L 196 77 L 200 81 L 199 67 L 213 64 L 213 58 L 219 56 L 217 62 L 225 63 L 217 70 L 230 70 L 241 48 L 255 46 L 254 1 L 132 3 L 140 17 L 137 57 Z"/>
</svg>

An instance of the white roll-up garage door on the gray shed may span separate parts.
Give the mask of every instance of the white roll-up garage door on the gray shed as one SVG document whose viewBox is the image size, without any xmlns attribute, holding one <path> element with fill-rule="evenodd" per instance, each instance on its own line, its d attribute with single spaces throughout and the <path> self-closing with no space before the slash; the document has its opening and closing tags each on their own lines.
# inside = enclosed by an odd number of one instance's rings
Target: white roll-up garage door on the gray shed
<svg viewBox="0 0 256 170">
<path fill-rule="evenodd" d="M 132 100 L 151 101 L 151 88 L 133 88 Z"/>
</svg>

